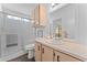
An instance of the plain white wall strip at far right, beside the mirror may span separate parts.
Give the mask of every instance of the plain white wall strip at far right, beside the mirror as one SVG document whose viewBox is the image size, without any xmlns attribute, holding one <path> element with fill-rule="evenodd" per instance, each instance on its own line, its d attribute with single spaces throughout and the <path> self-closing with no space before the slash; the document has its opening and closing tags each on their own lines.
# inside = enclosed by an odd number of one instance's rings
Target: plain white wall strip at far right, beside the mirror
<svg viewBox="0 0 87 65">
<path fill-rule="evenodd" d="M 87 3 L 76 6 L 76 40 L 83 44 L 87 44 Z"/>
</svg>

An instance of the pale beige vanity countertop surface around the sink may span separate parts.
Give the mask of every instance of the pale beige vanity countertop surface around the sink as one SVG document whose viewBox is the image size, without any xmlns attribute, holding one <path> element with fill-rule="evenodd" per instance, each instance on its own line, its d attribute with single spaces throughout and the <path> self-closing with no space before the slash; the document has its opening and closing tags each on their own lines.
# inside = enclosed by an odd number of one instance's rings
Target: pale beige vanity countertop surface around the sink
<svg viewBox="0 0 87 65">
<path fill-rule="evenodd" d="M 74 57 L 87 62 L 87 45 L 78 44 L 70 39 L 57 40 L 56 44 L 54 44 L 53 39 L 46 37 L 39 37 L 35 41 L 56 51 L 69 54 Z"/>
</svg>

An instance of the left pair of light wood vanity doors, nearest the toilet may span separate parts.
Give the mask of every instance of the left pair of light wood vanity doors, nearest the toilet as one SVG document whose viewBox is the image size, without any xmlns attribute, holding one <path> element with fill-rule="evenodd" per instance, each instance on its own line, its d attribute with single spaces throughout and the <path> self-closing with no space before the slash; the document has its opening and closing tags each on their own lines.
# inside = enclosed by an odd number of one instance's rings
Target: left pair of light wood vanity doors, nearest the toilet
<svg viewBox="0 0 87 65">
<path fill-rule="evenodd" d="M 35 43 L 35 61 L 53 62 L 53 50 L 40 43 Z"/>
</svg>

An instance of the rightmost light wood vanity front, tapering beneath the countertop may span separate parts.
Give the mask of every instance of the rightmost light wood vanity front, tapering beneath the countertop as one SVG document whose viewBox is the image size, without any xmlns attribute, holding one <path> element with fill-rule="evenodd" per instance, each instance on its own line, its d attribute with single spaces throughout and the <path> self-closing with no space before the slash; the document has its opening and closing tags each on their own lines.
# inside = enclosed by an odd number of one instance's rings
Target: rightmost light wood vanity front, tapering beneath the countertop
<svg viewBox="0 0 87 65">
<path fill-rule="evenodd" d="M 70 55 L 66 55 L 64 53 L 54 51 L 54 62 L 80 62 L 80 61 L 75 57 L 72 57 Z"/>
</svg>

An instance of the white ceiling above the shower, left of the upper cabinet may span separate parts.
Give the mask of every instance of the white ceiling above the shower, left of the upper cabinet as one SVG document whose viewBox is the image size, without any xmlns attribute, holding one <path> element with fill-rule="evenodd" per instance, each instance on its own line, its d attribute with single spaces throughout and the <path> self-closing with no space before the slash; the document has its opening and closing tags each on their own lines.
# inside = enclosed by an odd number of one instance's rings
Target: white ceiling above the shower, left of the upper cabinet
<svg viewBox="0 0 87 65">
<path fill-rule="evenodd" d="M 37 3 L 2 3 L 3 7 L 23 14 L 31 14 Z"/>
</svg>

